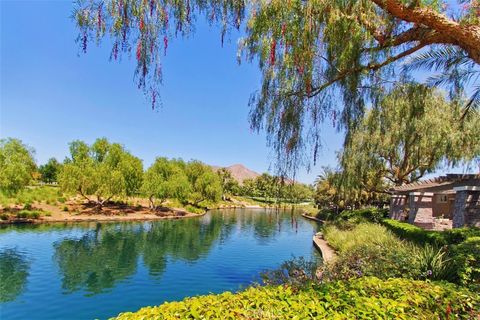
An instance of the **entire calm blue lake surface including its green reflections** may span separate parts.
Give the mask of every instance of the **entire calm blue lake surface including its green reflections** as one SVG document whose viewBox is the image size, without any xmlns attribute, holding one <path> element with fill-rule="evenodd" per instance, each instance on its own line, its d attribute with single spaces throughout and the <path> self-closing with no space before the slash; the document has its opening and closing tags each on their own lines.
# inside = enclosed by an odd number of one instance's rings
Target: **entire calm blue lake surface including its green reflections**
<svg viewBox="0 0 480 320">
<path fill-rule="evenodd" d="M 316 229 L 298 215 L 272 210 L 9 226 L 0 229 L 0 319 L 106 319 L 238 290 L 293 255 L 317 258 Z"/>
</svg>

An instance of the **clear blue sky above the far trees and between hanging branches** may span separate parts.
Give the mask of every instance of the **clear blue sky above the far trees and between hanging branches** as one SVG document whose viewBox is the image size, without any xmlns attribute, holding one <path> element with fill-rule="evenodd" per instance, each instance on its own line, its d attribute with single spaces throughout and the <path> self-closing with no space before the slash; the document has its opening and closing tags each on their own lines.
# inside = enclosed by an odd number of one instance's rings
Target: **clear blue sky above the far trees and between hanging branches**
<svg viewBox="0 0 480 320">
<path fill-rule="evenodd" d="M 150 165 L 156 156 L 242 163 L 263 172 L 271 164 L 263 134 L 250 131 L 248 99 L 259 88 L 254 64 L 236 62 L 238 34 L 224 47 L 199 19 L 188 39 L 169 44 L 163 63 L 163 108 L 152 111 L 133 81 L 134 58 L 109 62 L 108 43 L 80 54 L 70 1 L 0 1 L 0 136 L 36 150 L 38 163 L 62 160 L 68 142 L 97 137 L 123 143 Z M 343 137 L 325 128 L 317 168 L 335 165 Z"/>
</svg>

